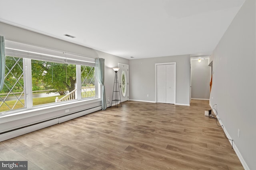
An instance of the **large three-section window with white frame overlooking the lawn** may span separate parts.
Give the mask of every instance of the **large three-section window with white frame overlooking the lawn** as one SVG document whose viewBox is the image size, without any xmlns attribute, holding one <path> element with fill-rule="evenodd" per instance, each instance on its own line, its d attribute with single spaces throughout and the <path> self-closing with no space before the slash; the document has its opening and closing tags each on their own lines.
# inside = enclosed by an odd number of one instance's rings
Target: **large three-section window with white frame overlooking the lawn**
<svg viewBox="0 0 256 170">
<path fill-rule="evenodd" d="M 97 96 L 93 62 L 58 56 L 49 59 L 14 50 L 7 50 L 7 54 L 4 88 L 0 91 L 1 114 Z"/>
</svg>

